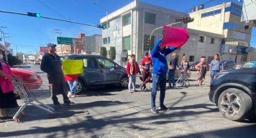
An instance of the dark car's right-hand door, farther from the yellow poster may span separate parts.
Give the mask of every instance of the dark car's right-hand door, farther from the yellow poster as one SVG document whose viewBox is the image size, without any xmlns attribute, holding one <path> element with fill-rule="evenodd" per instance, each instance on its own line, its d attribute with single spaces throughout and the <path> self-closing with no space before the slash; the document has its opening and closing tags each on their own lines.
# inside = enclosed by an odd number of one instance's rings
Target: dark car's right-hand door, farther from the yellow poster
<svg viewBox="0 0 256 138">
<path fill-rule="evenodd" d="M 115 69 L 114 62 L 107 58 L 96 58 L 99 68 L 99 79 L 101 83 L 118 83 L 120 79 L 120 70 Z"/>
</svg>

